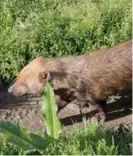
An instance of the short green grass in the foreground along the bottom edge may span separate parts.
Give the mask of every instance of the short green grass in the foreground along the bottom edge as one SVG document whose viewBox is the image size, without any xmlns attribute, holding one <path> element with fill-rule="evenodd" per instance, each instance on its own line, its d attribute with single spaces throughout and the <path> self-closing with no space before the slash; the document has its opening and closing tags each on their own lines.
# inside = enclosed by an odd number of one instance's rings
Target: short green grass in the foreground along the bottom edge
<svg viewBox="0 0 133 156">
<path fill-rule="evenodd" d="M 62 135 L 51 143 L 48 155 L 131 155 L 131 130 L 121 127 L 117 130 L 105 129 L 102 126 L 89 124 L 84 130 L 74 129 L 72 133 Z M 0 147 L 1 155 L 25 154 L 11 145 Z M 27 155 L 39 154 L 38 152 Z"/>
</svg>

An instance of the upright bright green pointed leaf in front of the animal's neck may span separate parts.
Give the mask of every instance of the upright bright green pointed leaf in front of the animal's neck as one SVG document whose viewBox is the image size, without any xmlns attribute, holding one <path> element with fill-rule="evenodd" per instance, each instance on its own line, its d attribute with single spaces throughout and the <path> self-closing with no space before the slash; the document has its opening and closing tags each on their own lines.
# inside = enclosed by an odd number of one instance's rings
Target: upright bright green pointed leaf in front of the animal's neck
<svg viewBox="0 0 133 156">
<path fill-rule="evenodd" d="M 46 132 L 50 137 L 58 139 L 61 133 L 61 125 L 57 117 L 58 108 L 55 103 L 54 92 L 49 83 L 46 85 L 43 98 L 44 102 L 41 110 L 46 123 Z"/>
</svg>

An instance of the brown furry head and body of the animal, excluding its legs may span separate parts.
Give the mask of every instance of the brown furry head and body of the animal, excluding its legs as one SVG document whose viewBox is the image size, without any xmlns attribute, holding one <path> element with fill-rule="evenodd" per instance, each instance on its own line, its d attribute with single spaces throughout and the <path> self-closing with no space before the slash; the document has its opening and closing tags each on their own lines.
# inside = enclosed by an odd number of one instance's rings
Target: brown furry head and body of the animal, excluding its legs
<svg viewBox="0 0 133 156">
<path fill-rule="evenodd" d="M 130 40 L 91 54 L 56 59 L 37 57 L 22 69 L 9 92 L 16 96 L 40 94 L 49 81 L 63 101 L 106 100 L 132 90 L 131 51 Z"/>
</svg>

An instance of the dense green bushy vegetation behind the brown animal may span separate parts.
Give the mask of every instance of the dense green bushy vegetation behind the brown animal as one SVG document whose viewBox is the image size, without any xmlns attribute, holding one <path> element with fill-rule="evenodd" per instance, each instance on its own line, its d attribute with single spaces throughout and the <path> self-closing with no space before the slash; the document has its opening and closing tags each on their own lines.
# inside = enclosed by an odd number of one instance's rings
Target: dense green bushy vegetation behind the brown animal
<svg viewBox="0 0 133 156">
<path fill-rule="evenodd" d="M 130 0 L 0 1 L 0 76 L 35 56 L 78 55 L 131 39 Z"/>
</svg>

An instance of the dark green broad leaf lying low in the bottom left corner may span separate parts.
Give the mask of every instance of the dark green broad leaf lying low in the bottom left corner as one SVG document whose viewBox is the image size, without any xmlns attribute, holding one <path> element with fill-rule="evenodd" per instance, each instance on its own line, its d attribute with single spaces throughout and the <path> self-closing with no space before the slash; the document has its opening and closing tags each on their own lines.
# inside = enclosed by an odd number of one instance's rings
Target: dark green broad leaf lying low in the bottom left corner
<svg viewBox="0 0 133 156">
<path fill-rule="evenodd" d="M 0 133 L 4 134 L 8 143 L 16 145 L 24 151 L 44 151 L 48 145 L 48 140 L 33 133 L 29 133 L 26 129 L 21 128 L 16 123 L 0 122 Z"/>
</svg>

